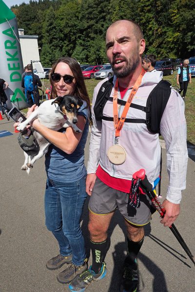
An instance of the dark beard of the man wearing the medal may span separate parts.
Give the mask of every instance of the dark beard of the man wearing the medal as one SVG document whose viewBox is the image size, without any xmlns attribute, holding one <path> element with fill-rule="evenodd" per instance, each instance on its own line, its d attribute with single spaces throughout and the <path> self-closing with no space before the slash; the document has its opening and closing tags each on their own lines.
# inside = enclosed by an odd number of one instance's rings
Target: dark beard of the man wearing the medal
<svg viewBox="0 0 195 292">
<path fill-rule="evenodd" d="M 115 62 L 115 58 L 121 58 L 120 55 L 116 55 L 114 57 L 113 63 Z M 115 68 L 114 64 L 112 64 L 112 69 L 114 74 L 117 76 L 117 78 L 124 78 L 127 77 L 128 75 L 130 75 L 131 73 L 133 73 L 138 64 L 139 64 L 139 55 L 135 55 L 134 57 L 132 57 L 131 59 L 127 60 L 126 57 L 122 57 L 123 61 L 125 61 L 126 65 L 123 66 L 122 68 Z"/>
</svg>

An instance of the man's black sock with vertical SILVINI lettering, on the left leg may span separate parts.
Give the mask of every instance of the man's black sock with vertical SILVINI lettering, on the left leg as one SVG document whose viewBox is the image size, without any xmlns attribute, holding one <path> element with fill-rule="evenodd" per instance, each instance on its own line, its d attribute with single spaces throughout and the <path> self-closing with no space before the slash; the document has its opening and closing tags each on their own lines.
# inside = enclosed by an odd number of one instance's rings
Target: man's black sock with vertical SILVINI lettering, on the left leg
<svg viewBox="0 0 195 292">
<path fill-rule="evenodd" d="M 90 242 L 92 251 L 92 270 L 98 274 L 108 251 L 109 240 L 106 238 L 106 240 L 102 242 L 94 242 L 92 240 L 90 240 Z"/>
</svg>

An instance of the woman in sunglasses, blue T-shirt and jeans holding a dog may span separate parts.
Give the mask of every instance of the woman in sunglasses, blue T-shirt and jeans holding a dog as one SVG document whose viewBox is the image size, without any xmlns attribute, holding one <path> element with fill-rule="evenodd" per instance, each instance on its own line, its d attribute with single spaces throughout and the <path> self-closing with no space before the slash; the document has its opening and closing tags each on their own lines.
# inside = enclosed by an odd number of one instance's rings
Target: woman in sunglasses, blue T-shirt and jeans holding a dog
<svg viewBox="0 0 195 292">
<path fill-rule="evenodd" d="M 52 98 L 72 94 L 83 101 L 78 110 L 77 124 L 82 133 L 74 132 L 71 127 L 56 132 L 44 127 L 38 120 L 32 124 L 52 143 L 45 156 L 45 218 L 48 230 L 58 240 L 59 255 L 48 260 L 46 267 L 56 270 L 71 263 L 58 275 L 60 283 L 69 283 L 87 269 L 80 218 L 86 199 L 84 147 L 91 110 L 82 72 L 75 59 L 60 58 L 51 70 L 50 82 Z M 30 111 L 34 109 L 35 106 Z"/>
</svg>

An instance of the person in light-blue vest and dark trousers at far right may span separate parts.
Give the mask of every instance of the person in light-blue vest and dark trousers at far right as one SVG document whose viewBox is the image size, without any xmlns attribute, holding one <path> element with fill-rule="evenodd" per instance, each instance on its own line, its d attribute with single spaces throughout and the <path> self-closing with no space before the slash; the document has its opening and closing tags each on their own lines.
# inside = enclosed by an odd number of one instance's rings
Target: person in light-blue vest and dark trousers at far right
<svg viewBox="0 0 195 292">
<path fill-rule="evenodd" d="M 177 85 L 180 85 L 179 93 L 183 91 L 183 100 L 186 96 L 186 91 L 188 88 L 188 83 L 191 84 L 191 69 L 188 67 L 189 60 L 186 59 L 183 61 L 183 66 L 179 67 L 177 71 Z"/>
</svg>

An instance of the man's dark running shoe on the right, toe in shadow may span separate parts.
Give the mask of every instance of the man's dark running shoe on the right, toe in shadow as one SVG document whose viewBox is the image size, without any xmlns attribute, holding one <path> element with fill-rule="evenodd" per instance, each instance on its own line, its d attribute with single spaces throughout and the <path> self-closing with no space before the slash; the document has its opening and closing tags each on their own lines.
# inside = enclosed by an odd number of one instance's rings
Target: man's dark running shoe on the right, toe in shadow
<svg viewBox="0 0 195 292">
<path fill-rule="evenodd" d="M 138 286 L 138 267 L 137 259 L 135 259 L 135 265 L 133 267 L 128 265 L 128 263 L 124 264 L 120 292 L 137 292 L 137 286 Z"/>
</svg>

